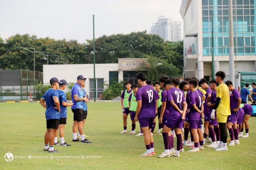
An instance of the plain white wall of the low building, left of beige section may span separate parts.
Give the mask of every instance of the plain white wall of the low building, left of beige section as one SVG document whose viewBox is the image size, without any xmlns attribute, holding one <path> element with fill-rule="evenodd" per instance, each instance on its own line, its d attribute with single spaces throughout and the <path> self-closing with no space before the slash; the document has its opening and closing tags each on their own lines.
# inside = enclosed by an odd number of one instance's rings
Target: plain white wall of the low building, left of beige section
<svg viewBox="0 0 256 170">
<path fill-rule="evenodd" d="M 117 71 L 118 64 L 95 64 L 95 78 L 104 78 L 106 84 L 109 83 L 109 71 Z M 93 79 L 93 64 L 59 64 L 44 65 L 44 83 L 48 83 L 52 77 L 59 80 L 65 79 L 67 82 L 76 82 L 78 75 L 83 75 L 86 80 L 85 90 L 89 92 L 89 79 Z M 104 88 L 106 88 L 104 86 Z M 67 91 L 67 90 L 66 90 Z"/>
</svg>

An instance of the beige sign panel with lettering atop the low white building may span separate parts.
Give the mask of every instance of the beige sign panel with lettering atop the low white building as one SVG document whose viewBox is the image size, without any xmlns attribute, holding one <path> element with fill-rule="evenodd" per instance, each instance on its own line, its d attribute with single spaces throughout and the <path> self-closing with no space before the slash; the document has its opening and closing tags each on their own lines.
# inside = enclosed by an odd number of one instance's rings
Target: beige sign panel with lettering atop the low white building
<svg viewBox="0 0 256 170">
<path fill-rule="evenodd" d="M 118 70 L 138 70 L 139 66 L 146 61 L 147 58 L 118 58 Z"/>
</svg>

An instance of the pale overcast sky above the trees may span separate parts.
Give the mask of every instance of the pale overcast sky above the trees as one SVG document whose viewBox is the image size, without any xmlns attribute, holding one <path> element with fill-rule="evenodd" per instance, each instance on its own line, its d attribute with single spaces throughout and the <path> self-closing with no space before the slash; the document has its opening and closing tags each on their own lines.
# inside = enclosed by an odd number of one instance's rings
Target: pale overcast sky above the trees
<svg viewBox="0 0 256 170">
<path fill-rule="evenodd" d="M 30 34 L 80 43 L 102 35 L 147 30 L 164 15 L 183 23 L 181 0 L 0 0 L 0 37 Z"/>
</svg>

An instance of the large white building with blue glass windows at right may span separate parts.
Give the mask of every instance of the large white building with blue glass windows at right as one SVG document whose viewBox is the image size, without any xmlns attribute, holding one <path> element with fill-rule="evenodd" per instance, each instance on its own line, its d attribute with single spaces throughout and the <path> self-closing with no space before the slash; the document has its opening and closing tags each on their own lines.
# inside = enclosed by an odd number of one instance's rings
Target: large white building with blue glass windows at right
<svg viewBox="0 0 256 170">
<path fill-rule="evenodd" d="M 256 1 L 236 1 L 234 15 L 235 72 L 256 71 Z M 214 68 L 229 79 L 228 0 L 182 0 L 184 77 L 211 77 L 211 30 L 214 26 Z"/>
</svg>

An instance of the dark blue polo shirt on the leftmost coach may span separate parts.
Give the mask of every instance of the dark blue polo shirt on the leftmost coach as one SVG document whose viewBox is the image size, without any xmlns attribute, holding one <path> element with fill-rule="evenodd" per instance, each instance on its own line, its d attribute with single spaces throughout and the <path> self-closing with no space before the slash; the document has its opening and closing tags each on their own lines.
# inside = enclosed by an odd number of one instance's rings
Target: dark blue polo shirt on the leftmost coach
<svg viewBox="0 0 256 170">
<path fill-rule="evenodd" d="M 56 106 L 54 104 L 53 97 L 59 98 L 58 91 L 53 88 L 50 88 L 49 90 L 47 90 L 45 94 L 42 96 L 42 99 L 44 99 L 46 102 L 46 111 L 45 111 L 46 120 L 60 119 L 59 110 L 54 108 Z"/>
</svg>

